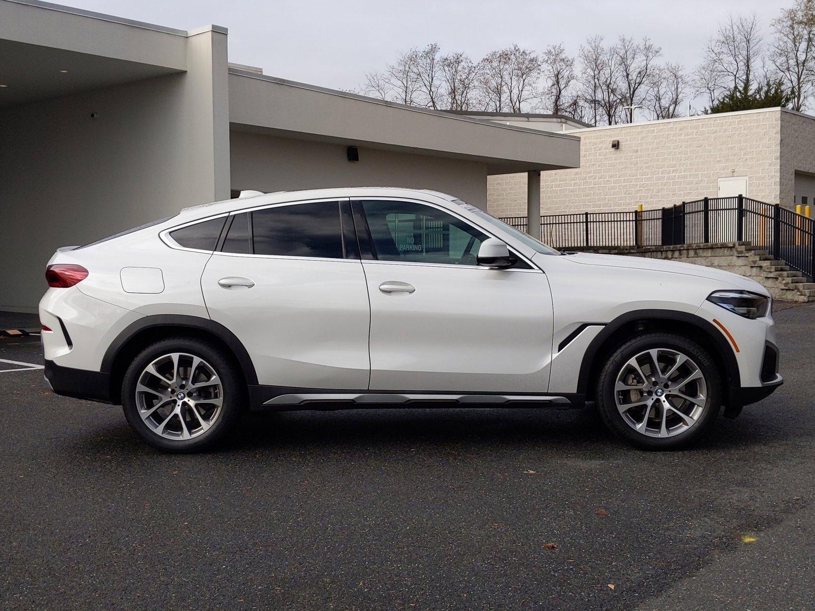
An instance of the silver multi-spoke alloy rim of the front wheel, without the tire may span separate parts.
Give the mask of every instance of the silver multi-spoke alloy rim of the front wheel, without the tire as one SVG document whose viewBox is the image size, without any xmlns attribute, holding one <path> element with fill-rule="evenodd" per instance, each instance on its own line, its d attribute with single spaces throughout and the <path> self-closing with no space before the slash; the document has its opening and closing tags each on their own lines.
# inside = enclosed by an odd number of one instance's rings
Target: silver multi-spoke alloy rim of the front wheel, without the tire
<svg viewBox="0 0 815 611">
<path fill-rule="evenodd" d="M 696 424 L 707 405 L 707 382 L 686 354 L 645 350 L 615 380 L 615 402 L 626 424 L 649 437 L 673 437 Z"/>
</svg>

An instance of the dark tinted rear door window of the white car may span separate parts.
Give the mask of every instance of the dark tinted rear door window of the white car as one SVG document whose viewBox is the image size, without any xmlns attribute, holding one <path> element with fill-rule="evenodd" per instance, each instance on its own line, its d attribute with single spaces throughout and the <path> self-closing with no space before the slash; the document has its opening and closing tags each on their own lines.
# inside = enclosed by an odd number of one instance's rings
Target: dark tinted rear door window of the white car
<svg viewBox="0 0 815 611">
<path fill-rule="evenodd" d="M 342 228 L 337 201 L 318 201 L 252 213 L 255 254 L 341 259 Z"/>
</svg>

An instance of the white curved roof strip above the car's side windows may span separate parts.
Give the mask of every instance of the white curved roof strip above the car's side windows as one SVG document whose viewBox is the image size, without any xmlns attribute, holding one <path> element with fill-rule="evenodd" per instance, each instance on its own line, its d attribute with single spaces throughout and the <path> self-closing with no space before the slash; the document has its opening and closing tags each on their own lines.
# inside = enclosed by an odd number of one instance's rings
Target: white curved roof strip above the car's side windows
<svg viewBox="0 0 815 611">
<path fill-rule="evenodd" d="M 196 218 L 207 218 L 217 214 L 235 212 L 236 210 L 244 210 L 250 208 L 257 208 L 258 206 L 283 204 L 286 202 L 302 201 L 302 200 L 322 200 L 332 197 L 345 198 L 345 197 L 416 197 L 421 196 L 421 199 L 426 199 L 427 196 L 433 196 L 438 199 L 454 201 L 457 200 L 455 196 L 447 195 L 440 191 L 431 191 L 430 189 L 407 189 L 403 187 L 336 187 L 328 189 L 309 189 L 307 191 L 275 191 L 274 193 L 262 193 L 256 196 L 238 197 L 233 200 L 215 201 L 212 204 L 202 204 L 200 206 L 192 206 L 185 208 L 179 213 L 180 218 L 184 222 L 194 220 Z"/>
</svg>

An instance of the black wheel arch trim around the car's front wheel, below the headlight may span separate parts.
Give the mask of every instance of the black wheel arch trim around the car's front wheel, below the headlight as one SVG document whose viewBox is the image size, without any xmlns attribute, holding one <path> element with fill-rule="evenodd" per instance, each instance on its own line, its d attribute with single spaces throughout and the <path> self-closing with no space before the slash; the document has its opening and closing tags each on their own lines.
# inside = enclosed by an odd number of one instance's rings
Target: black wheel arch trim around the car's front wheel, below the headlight
<svg viewBox="0 0 815 611">
<path fill-rule="evenodd" d="M 580 364 L 580 372 L 577 380 L 577 392 L 587 393 L 588 385 L 591 380 L 589 376 L 594 365 L 597 353 L 600 351 L 601 346 L 606 340 L 616 331 L 619 330 L 626 323 L 631 323 L 634 320 L 676 320 L 682 323 L 689 323 L 698 327 L 701 331 L 706 332 L 711 340 L 716 344 L 719 349 L 719 355 L 725 362 L 727 369 L 726 373 L 729 377 L 729 387 L 726 387 L 726 400 L 738 401 L 738 393 L 734 393 L 734 389 L 741 387 L 741 374 L 738 371 L 738 362 L 733 348 L 730 347 L 726 338 L 722 333 L 713 326 L 712 323 L 707 322 L 701 316 L 696 314 L 689 314 L 688 312 L 680 312 L 676 310 L 632 310 L 625 314 L 620 314 L 616 319 L 606 324 L 606 327 L 592 340 L 588 345 L 584 355 L 583 362 Z"/>
</svg>

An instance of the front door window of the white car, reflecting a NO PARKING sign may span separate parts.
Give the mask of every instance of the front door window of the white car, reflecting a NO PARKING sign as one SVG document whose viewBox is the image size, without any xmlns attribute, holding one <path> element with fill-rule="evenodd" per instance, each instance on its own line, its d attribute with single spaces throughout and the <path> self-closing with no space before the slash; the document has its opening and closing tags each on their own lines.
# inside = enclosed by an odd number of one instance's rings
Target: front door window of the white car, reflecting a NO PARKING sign
<svg viewBox="0 0 815 611">
<path fill-rule="evenodd" d="M 489 237 L 443 210 L 410 201 L 363 200 L 380 261 L 478 265 L 478 247 Z"/>
</svg>

